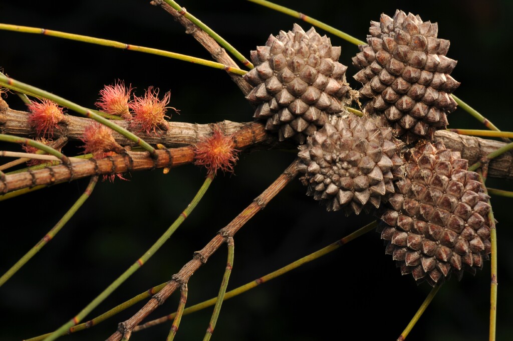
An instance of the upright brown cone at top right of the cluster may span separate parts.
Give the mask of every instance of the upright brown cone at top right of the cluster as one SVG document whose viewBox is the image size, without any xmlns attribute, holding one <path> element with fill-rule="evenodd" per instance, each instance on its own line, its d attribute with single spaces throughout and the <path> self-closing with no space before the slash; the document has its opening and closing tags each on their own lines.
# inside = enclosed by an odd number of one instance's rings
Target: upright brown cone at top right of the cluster
<svg viewBox="0 0 513 341">
<path fill-rule="evenodd" d="M 354 75 L 363 84 L 360 94 L 370 99 L 365 110 L 382 116 L 407 143 L 431 140 L 457 106 L 450 93 L 460 83 L 449 75 L 457 62 L 445 56 L 449 41 L 437 38 L 437 23 L 400 10 L 392 18 L 381 14 L 369 32 L 369 45 L 352 59 L 361 69 Z"/>
</svg>

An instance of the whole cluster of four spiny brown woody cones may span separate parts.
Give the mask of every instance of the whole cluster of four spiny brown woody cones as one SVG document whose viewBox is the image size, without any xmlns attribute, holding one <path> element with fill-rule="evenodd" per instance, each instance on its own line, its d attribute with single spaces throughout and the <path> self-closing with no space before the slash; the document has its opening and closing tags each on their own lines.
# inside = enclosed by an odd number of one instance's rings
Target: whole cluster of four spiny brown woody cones
<svg viewBox="0 0 513 341">
<path fill-rule="evenodd" d="M 280 141 L 299 142 L 307 195 L 328 211 L 380 216 L 386 253 L 403 274 L 434 286 L 475 273 L 490 253 L 489 197 L 459 153 L 431 143 L 457 106 L 449 41 L 437 37 L 437 24 L 399 10 L 369 31 L 353 58 L 364 117 L 345 110 L 340 47 L 298 25 L 251 51 L 254 117 Z"/>
</svg>

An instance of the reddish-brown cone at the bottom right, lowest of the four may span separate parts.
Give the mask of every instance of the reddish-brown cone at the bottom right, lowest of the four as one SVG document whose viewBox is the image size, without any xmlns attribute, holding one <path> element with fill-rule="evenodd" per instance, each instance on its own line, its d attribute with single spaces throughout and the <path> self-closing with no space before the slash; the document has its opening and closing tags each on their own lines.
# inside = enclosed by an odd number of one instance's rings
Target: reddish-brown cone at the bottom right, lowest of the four
<svg viewBox="0 0 513 341">
<path fill-rule="evenodd" d="M 441 142 L 410 149 L 404 178 L 387 197 L 381 217 L 386 253 L 418 283 L 434 286 L 451 273 L 461 279 L 463 270 L 475 274 L 488 259 L 489 197 L 467 164 Z"/>
</svg>

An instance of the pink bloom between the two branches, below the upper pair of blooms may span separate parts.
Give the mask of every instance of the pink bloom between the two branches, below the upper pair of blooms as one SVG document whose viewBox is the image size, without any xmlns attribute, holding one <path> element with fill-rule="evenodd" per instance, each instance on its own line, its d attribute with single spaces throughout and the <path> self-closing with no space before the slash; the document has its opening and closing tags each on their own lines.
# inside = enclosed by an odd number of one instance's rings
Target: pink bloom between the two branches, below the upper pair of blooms
<svg viewBox="0 0 513 341">
<path fill-rule="evenodd" d="M 84 129 L 80 138 L 84 142 L 84 154 L 91 153 L 95 159 L 103 159 L 107 151 L 123 151 L 112 136 L 112 129 L 98 122 L 92 122 Z"/>
</svg>

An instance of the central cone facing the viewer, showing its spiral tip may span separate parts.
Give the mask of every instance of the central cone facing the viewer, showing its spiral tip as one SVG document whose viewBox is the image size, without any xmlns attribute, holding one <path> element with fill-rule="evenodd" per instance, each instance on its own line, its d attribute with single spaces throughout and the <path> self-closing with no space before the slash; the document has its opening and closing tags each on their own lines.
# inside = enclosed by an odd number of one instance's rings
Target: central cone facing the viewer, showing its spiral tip
<svg viewBox="0 0 513 341">
<path fill-rule="evenodd" d="M 298 170 L 305 174 L 300 180 L 306 194 L 324 202 L 328 211 L 359 214 L 393 193 L 402 146 L 391 128 L 378 127 L 372 119 L 332 116 L 299 146 Z"/>
</svg>

